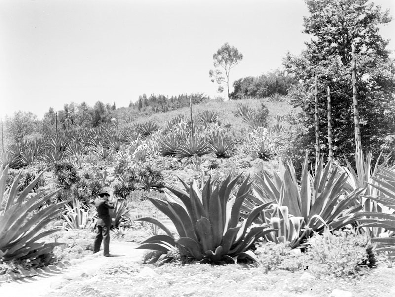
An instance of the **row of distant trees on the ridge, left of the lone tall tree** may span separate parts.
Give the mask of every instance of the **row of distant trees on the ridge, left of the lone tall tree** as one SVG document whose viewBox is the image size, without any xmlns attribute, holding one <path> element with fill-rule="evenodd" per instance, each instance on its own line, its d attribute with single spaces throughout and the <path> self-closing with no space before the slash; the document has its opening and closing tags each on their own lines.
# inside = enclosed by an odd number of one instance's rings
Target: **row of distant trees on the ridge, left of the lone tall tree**
<svg viewBox="0 0 395 297">
<path fill-rule="evenodd" d="M 133 122 L 140 116 L 149 116 L 156 112 L 166 112 L 199 104 L 210 97 L 202 93 L 181 94 L 166 97 L 164 95 L 145 94 L 139 96 L 136 103 L 130 102 L 129 107 L 116 108 L 114 104 L 105 104 L 97 101 L 93 107 L 86 102 L 76 104 L 71 102 L 64 104 L 63 109 L 54 110 L 49 108 L 43 119 L 39 119 L 32 112 L 18 111 L 12 117 L 6 117 L 4 121 L 4 138 L 7 143 L 21 141 L 29 137 L 56 134 L 58 131 L 94 128 L 109 123 L 120 124 Z"/>
</svg>

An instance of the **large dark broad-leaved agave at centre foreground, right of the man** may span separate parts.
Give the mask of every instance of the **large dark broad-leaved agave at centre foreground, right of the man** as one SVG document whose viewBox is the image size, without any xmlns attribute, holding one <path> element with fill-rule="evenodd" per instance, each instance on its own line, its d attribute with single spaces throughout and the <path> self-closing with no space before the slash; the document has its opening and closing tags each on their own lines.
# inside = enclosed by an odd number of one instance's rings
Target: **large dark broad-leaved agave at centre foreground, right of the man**
<svg viewBox="0 0 395 297">
<path fill-rule="evenodd" d="M 271 202 L 252 209 L 247 218 L 239 221 L 241 205 L 250 191 L 248 177 L 235 195 L 232 190 L 241 174 L 231 180 L 231 174 L 222 183 L 194 181 L 183 188 L 166 186 L 166 201 L 148 199 L 173 222 L 179 238 L 155 218 L 140 218 L 158 225 L 167 235 L 156 235 L 144 240 L 139 248 L 153 249 L 166 254 L 176 246 L 183 247 L 188 256 L 208 263 L 234 263 L 237 259 L 255 260 L 251 245 L 261 236 L 273 231 L 267 225 L 253 221 Z M 165 256 L 164 256 L 165 257 Z"/>
</svg>

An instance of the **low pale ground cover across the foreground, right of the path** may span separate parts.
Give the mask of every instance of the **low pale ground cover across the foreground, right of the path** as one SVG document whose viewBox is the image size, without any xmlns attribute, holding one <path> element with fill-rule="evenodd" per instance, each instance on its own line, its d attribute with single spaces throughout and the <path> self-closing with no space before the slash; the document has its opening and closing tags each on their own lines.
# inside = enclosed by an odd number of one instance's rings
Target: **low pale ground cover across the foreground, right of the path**
<svg viewBox="0 0 395 297">
<path fill-rule="evenodd" d="M 141 277 L 139 272 L 149 267 L 157 274 L 153 278 Z M 256 297 L 310 294 L 327 297 L 333 289 L 353 292 L 353 296 L 390 297 L 395 270 L 380 268 L 352 282 L 348 279 L 327 278 L 322 280 L 301 280 L 304 271 L 269 271 L 262 267 L 241 265 L 211 266 L 190 264 L 180 266 L 165 264 L 158 268 L 140 265 L 127 260 L 114 261 L 98 272 L 92 280 L 74 282 L 56 291 L 59 297 L 79 296 L 194 296 L 194 297 Z M 100 279 L 100 282 L 97 282 Z M 110 289 L 111 288 L 111 289 Z"/>
</svg>

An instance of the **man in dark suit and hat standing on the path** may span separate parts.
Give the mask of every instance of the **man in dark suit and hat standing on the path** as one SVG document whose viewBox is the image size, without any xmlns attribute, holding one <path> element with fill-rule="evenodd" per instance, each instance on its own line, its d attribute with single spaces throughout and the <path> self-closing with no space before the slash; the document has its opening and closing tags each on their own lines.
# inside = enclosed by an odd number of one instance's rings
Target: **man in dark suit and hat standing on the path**
<svg viewBox="0 0 395 297">
<path fill-rule="evenodd" d="M 104 245 L 103 255 L 106 257 L 111 257 L 109 246 L 110 246 L 110 227 L 111 227 L 111 217 L 109 209 L 114 209 L 114 201 L 111 199 L 109 201 L 110 194 L 107 190 L 101 190 L 99 197 L 95 200 L 98 220 L 97 220 L 97 230 L 96 238 L 93 247 L 93 253 L 97 253 L 100 250 L 100 246 Z"/>
</svg>

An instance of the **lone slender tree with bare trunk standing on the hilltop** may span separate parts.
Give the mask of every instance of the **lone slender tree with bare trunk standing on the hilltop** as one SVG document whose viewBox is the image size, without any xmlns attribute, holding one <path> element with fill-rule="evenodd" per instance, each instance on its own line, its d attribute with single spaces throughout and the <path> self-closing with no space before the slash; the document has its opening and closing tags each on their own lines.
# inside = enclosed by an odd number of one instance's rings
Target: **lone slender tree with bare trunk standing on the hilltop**
<svg viewBox="0 0 395 297">
<path fill-rule="evenodd" d="M 222 83 L 226 83 L 228 89 L 228 99 L 230 99 L 229 93 L 229 71 L 238 64 L 243 59 L 243 54 L 238 52 L 238 49 L 234 46 L 230 46 L 226 42 L 221 46 L 217 52 L 213 55 L 215 70 L 210 70 L 211 82 L 216 82 L 218 86 L 218 91 L 221 93 L 224 91 Z M 218 68 L 222 68 L 221 70 Z M 223 76 L 223 71 L 225 76 Z"/>
</svg>

